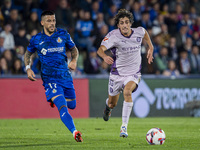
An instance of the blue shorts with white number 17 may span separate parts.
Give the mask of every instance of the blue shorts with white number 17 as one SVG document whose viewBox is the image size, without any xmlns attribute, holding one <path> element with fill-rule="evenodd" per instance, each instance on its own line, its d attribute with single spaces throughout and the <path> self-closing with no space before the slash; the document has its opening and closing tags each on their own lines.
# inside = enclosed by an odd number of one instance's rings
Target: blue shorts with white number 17
<svg viewBox="0 0 200 150">
<path fill-rule="evenodd" d="M 57 83 L 48 83 L 44 85 L 45 87 L 45 95 L 47 98 L 47 101 L 49 102 L 52 97 L 57 95 L 63 95 L 65 98 L 68 99 L 75 99 L 75 89 L 74 87 L 66 88 L 61 85 L 58 85 Z"/>
</svg>

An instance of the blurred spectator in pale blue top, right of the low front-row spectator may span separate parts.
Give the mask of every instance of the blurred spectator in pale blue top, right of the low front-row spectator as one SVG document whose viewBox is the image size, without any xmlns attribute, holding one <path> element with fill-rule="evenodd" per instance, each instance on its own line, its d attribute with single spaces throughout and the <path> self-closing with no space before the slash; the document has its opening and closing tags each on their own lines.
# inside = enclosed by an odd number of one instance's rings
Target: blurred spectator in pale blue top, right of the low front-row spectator
<svg viewBox="0 0 200 150">
<path fill-rule="evenodd" d="M 180 53 L 179 67 L 180 67 L 181 74 L 185 74 L 185 75 L 190 74 L 191 65 L 190 65 L 190 61 L 188 57 L 188 52 L 186 50 Z"/>
</svg>

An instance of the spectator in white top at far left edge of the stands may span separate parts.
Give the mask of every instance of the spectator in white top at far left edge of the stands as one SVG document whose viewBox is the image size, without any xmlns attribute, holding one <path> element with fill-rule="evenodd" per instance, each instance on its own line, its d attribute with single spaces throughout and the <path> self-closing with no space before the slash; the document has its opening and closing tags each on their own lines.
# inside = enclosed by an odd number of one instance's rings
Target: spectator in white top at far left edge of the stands
<svg viewBox="0 0 200 150">
<path fill-rule="evenodd" d="M 1 37 L 4 37 L 4 44 L 3 47 L 5 49 L 14 49 L 15 42 L 14 42 L 14 36 L 11 33 L 12 27 L 10 24 L 6 24 L 4 26 L 4 30 L 0 33 Z"/>
</svg>

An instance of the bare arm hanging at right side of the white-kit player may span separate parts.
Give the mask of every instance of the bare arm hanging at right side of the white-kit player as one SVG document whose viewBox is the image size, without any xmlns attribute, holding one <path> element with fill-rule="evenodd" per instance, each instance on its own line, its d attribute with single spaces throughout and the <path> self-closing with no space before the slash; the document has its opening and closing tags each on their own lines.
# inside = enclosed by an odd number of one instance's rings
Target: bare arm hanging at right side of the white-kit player
<svg viewBox="0 0 200 150">
<path fill-rule="evenodd" d="M 147 51 L 147 59 L 148 59 L 148 63 L 151 64 L 153 62 L 153 44 L 146 30 L 145 30 L 144 40 L 147 42 L 149 46 L 149 49 Z"/>
</svg>

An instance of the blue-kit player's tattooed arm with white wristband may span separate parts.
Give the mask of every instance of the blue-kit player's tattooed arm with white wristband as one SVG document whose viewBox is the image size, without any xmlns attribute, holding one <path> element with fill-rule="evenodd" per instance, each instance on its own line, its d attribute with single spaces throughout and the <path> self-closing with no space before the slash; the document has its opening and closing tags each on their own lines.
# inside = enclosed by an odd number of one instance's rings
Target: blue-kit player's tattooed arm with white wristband
<svg viewBox="0 0 200 150">
<path fill-rule="evenodd" d="M 24 63 L 25 63 L 25 66 L 26 66 L 26 72 L 27 72 L 27 76 L 28 78 L 31 80 L 31 81 L 36 81 L 35 79 L 35 74 L 33 72 L 33 70 L 31 70 L 31 55 L 33 53 L 29 52 L 28 50 L 25 52 L 24 54 Z"/>
</svg>

